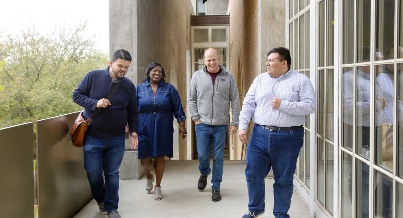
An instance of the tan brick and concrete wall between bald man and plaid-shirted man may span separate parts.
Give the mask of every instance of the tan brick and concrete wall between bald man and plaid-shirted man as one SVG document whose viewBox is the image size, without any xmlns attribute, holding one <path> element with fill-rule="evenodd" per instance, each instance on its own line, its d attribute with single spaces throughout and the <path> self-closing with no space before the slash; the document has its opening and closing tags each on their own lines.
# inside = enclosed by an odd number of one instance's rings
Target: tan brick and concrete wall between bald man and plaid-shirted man
<svg viewBox="0 0 403 218">
<path fill-rule="evenodd" d="M 273 47 L 285 46 L 285 1 L 230 0 L 228 12 L 230 70 L 237 79 L 242 105 L 255 77 L 266 72 L 267 51 Z M 242 148 L 244 147 L 238 135 L 232 137 L 230 159 L 243 159 L 245 151 Z"/>
</svg>

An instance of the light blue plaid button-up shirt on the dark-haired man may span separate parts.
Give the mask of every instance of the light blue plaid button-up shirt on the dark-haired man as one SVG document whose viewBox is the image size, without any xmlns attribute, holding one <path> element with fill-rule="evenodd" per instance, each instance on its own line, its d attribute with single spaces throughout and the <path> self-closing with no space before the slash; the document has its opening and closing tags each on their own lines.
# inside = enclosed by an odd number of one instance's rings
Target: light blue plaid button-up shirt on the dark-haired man
<svg viewBox="0 0 403 218">
<path fill-rule="evenodd" d="M 282 98 L 279 109 L 272 98 Z M 250 119 L 259 125 L 290 127 L 305 123 L 305 115 L 315 111 L 315 91 L 304 74 L 290 69 L 279 78 L 268 73 L 257 76 L 243 100 L 239 130 L 247 129 Z"/>
</svg>

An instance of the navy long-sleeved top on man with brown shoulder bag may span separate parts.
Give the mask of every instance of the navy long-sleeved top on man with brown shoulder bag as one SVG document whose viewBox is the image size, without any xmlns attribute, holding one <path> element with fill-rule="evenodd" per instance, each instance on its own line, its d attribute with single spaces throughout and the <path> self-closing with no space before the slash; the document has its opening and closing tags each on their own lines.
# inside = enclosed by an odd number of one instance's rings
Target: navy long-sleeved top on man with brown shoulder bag
<svg viewBox="0 0 403 218">
<path fill-rule="evenodd" d="M 84 107 L 83 116 L 88 119 L 96 109 L 98 100 L 106 98 L 116 85 L 105 70 L 94 70 L 81 80 L 73 92 L 73 101 Z M 137 108 L 136 88 L 132 81 L 124 78 L 119 88 L 110 99 L 111 105 L 104 108 L 90 123 L 87 133 L 101 137 L 114 137 L 125 132 L 129 124 L 130 132 L 138 133 L 139 114 Z"/>
</svg>

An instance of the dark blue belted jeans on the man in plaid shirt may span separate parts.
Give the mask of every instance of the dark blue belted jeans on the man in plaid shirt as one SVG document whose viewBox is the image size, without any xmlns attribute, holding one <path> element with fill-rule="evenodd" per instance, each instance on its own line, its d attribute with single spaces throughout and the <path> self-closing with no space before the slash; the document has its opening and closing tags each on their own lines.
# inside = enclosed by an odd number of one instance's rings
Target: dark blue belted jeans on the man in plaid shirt
<svg viewBox="0 0 403 218">
<path fill-rule="evenodd" d="M 249 211 L 264 212 L 264 178 L 273 169 L 274 209 L 276 218 L 290 217 L 293 179 L 299 150 L 303 145 L 304 130 L 269 131 L 254 126 L 246 153 L 246 182 L 249 193 Z"/>
</svg>

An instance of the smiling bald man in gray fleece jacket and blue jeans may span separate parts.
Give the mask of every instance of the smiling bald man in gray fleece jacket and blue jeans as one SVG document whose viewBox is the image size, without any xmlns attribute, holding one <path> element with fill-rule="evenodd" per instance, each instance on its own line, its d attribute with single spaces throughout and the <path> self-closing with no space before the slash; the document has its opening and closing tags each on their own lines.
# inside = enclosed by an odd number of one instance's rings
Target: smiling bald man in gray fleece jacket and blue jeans
<svg viewBox="0 0 403 218">
<path fill-rule="evenodd" d="M 193 74 L 190 82 L 188 106 L 196 128 L 199 170 L 198 189 L 204 190 L 210 168 L 210 143 L 213 145 L 212 201 L 220 201 L 220 184 L 224 167 L 224 147 L 228 129 L 231 102 L 232 122 L 230 134 L 238 129 L 239 96 L 232 73 L 219 65 L 217 50 L 209 48 L 204 53 L 205 66 Z"/>
</svg>

